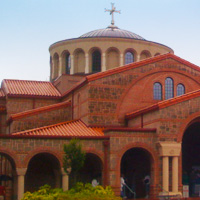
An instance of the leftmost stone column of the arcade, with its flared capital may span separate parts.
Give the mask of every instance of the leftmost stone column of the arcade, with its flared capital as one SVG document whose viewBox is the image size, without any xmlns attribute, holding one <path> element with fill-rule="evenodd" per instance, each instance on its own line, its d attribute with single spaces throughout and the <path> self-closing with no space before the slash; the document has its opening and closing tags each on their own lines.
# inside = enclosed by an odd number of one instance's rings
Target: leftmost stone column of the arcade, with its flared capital
<svg viewBox="0 0 200 200">
<path fill-rule="evenodd" d="M 24 195 L 24 176 L 27 168 L 17 168 L 17 199 L 21 200 Z"/>
</svg>

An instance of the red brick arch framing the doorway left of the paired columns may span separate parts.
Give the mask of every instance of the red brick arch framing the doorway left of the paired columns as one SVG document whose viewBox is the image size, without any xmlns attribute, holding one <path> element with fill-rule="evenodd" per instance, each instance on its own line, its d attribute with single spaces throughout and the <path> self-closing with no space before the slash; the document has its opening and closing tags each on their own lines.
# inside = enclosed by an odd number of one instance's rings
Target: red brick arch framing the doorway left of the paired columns
<svg viewBox="0 0 200 200">
<path fill-rule="evenodd" d="M 151 161 L 151 172 L 152 171 L 154 172 L 152 185 L 157 185 L 159 181 L 158 178 L 156 178 L 158 177 L 158 174 L 159 174 L 159 170 L 158 170 L 159 156 L 158 156 L 158 153 L 156 153 L 156 151 L 151 146 L 143 142 L 134 142 L 132 144 L 128 144 L 116 152 L 116 154 L 119 157 L 116 164 L 116 171 L 117 171 L 116 185 L 120 185 L 120 166 L 121 166 L 122 157 L 129 149 L 133 149 L 133 148 L 141 148 L 149 154 L 150 161 Z"/>
</svg>

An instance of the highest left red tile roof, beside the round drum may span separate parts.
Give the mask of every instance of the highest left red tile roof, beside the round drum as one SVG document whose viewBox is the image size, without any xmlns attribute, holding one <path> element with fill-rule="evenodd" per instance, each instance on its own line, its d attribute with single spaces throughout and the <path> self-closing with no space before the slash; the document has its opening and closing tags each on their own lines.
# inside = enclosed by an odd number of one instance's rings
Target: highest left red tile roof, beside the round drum
<svg viewBox="0 0 200 200">
<path fill-rule="evenodd" d="M 6 80 L 2 88 L 8 96 L 60 97 L 60 92 L 47 81 Z"/>
</svg>

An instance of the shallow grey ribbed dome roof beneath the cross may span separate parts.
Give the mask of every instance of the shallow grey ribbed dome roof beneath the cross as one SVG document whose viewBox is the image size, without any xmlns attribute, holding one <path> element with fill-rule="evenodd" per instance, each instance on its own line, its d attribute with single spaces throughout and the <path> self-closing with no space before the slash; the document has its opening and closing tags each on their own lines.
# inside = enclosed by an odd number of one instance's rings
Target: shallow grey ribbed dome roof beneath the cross
<svg viewBox="0 0 200 200">
<path fill-rule="evenodd" d="M 110 25 L 105 29 L 90 31 L 88 33 L 81 35 L 79 38 L 94 38 L 94 37 L 129 38 L 136 40 L 145 40 L 143 37 L 135 33 L 122 30 L 114 25 Z"/>
</svg>

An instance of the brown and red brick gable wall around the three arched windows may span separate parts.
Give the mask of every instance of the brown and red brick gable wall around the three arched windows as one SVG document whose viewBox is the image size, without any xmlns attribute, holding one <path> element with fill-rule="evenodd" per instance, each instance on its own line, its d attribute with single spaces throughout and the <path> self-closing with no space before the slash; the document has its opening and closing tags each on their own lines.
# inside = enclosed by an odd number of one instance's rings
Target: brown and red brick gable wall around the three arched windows
<svg viewBox="0 0 200 200">
<path fill-rule="evenodd" d="M 175 91 L 177 84 L 183 83 L 186 92 L 191 92 L 199 89 L 199 75 L 199 71 L 167 59 L 92 81 L 88 88 L 88 123 L 124 124 L 126 113 L 158 102 L 153 100 L 155 82 L 163 85 L 164 99 L 167 77 L 173 78 Z"/>
</svg>

